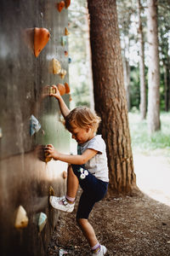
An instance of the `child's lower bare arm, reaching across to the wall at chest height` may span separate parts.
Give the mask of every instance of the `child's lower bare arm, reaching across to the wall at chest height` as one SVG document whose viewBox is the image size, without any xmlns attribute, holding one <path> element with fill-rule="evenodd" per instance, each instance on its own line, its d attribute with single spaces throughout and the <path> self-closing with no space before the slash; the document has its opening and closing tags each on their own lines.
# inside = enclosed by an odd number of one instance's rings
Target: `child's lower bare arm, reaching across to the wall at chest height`
<svg viewBox="0 0 170 256">
<path fill-rule="evenodd" d="M 87 149 L 83 154 L 71 155 L 71 154 L 61 154 L 55 150 L 54 146 L 49 144 L 45 152 L 48 153 L 48 157 L 52 157 L 54 160 L 60 160 L 72 165 L 84 165 L 88 160 L 94 157 L 98 151 L 94 149 Z"/>
</svg>

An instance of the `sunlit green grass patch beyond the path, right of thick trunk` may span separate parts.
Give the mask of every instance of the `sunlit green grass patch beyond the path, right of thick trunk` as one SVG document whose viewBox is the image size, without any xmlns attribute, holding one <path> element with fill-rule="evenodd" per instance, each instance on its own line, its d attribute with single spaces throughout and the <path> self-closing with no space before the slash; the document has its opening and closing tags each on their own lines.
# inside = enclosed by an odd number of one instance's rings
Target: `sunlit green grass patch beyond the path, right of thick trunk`
<svg viewBox="0 0 170 256">
<path fill-rule="evenodd" d="M 139 113 L 129 113 L 129 126 L 133 150 L 149 152 L 159 148 L 170 154 L 170 117 L 169 113 L 161 113 L 161 131 L 148 134 L 147 120 L 141 120 Z"/>
</svg>

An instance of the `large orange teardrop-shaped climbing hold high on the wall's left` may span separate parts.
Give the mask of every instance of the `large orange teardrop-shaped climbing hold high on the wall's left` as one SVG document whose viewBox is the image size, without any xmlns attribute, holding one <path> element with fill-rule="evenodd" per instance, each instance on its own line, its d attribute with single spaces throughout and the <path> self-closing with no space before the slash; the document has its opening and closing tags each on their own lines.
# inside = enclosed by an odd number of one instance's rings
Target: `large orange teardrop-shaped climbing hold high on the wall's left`
<svg viewBox="0 0 170 256">
<path fill-rule="evenodd" d="M 50 34 L 47 28 L 34 28 L 34 55 L 37 57 L 42 49 L 48 44 Z"/>
</svg>

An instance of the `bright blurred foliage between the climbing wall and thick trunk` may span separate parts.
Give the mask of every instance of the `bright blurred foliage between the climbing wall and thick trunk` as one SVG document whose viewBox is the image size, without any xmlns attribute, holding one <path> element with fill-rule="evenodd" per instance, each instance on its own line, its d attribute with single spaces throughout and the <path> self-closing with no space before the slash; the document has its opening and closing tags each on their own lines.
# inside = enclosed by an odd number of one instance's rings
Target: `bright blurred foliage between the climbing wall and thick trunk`
<svg viewBox="0 0 170 256">
<path fill-rule="evenodd" d="M 69 77 L 71 85 L 72 105 L 89 106 L 87 56 L 87 1 L 72 1 L 69 9 Z"/>
</svg>

